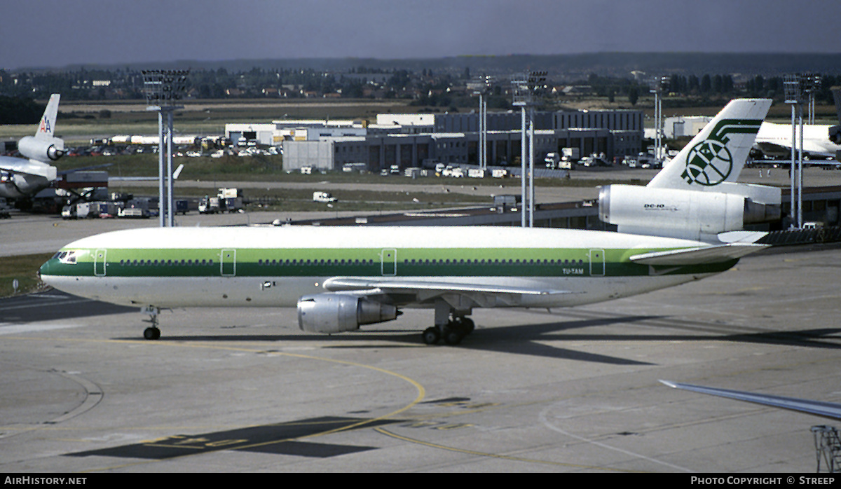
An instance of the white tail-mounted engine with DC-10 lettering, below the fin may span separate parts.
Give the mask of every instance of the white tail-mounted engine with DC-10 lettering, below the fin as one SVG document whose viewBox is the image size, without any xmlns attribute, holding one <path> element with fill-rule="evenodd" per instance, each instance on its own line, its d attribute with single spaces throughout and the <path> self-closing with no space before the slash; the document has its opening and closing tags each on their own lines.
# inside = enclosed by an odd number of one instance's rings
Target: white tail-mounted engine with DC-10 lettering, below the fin
<svg viewBox="0 0 841 489">
<path fill-rule="evenodd" d="M 608 185 L 599 192 L 599 218 L 623 233 L 704 240 L 779 219 L 780 207 L 738 193 Z"/>
</svg>

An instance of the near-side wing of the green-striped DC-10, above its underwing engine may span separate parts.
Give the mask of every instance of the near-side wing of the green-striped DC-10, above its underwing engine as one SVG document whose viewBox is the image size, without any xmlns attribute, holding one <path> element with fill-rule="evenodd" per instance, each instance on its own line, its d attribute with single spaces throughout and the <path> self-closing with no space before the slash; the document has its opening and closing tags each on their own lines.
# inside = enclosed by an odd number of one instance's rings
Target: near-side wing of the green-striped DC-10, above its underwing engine
<svg viewBox="0 0 841 489">
<path fill-rule="evenodd" d="M 331 292 L 373 290 L 383 292 L 439 291 L 439 292 L 479 292 L 496 294 L 526 294 L 546 296 L 569 294 L 569 291 L 538 289 L 527 287 L 503 287 L 494 285 L 455 283 L 446 281 L 387 281 L 352 277 L 333 277 L 324 282 L 325 289 Z"/>
</svg>

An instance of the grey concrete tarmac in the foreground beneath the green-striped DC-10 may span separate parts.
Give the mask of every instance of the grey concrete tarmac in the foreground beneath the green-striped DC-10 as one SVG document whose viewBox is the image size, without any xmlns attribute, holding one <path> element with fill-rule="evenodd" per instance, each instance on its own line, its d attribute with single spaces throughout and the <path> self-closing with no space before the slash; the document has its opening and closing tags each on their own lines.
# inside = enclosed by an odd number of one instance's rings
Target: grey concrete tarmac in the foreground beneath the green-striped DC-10
<svg viewBox="0 0 841 489">
<path fill-rule="evenodd" d="M 144 315 L 57 292 L 0 301 L 0 471 L 775 472 L 826 420 L 658 379 L 839 402 L 841 248 L 776 250 L 586 307 L 430 311 L 361 332 L 294 309 Z"/>
</svg>

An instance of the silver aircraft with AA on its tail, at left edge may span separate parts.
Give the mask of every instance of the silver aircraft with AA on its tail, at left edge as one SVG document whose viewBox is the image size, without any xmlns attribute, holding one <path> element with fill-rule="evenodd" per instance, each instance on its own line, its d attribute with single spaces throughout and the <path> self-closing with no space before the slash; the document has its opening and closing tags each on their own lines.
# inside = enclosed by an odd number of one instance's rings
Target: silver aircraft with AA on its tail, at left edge
<svg viewBox="0 0 841 489">
<path fill-rule="evenodd" d="M 47 162 L 64 155 L 64 139 L 53 135 L 59 98 L 58 93 L 50 97 L 35 135 L 25 136 L 18 142 L 18 150 L 25 159 L 0 156 L 0 197 L 31 197 L 56 180 L 56 167 Z"/>
</svg>

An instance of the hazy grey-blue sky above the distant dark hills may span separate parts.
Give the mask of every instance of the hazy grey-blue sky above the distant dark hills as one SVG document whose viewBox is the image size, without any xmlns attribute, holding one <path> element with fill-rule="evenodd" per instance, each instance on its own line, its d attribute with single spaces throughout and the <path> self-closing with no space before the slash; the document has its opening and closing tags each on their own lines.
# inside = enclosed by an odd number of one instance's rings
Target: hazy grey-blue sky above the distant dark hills
<svg viewBox="0 0 841 489">
<path fill-rule="evenodd" d="M 841 52 L 841 0 L 13 0 L 0 68 L 167 60 Z"/>
</svg>

